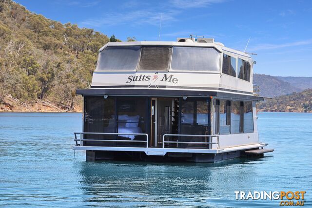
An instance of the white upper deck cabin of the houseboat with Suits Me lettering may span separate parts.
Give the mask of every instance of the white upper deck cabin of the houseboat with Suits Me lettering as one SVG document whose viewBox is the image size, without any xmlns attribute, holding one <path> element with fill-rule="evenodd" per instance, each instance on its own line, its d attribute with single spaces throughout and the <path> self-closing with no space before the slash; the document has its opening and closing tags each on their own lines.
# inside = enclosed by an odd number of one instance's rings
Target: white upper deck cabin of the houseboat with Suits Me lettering
<svg viewBox="0 0 312 208">
<path fill-rule="evenodd" d="M 129 95 L 139 89 L 140 94 L 147 95 L 178 95 L 179 90 L 185 96 L 254 95 L 252 57 L 212 38 L 188 40 L 109 42 L 100 49 L 91 84 L 91 89 L 106 90 L 77 93 L 115 94 L 113 89 L 128 89 L 123 92 Z M 164 89 L 168 91 L 159 91 Z M 120 90 L 118 93 L 122 94 Z"/>
</svg>

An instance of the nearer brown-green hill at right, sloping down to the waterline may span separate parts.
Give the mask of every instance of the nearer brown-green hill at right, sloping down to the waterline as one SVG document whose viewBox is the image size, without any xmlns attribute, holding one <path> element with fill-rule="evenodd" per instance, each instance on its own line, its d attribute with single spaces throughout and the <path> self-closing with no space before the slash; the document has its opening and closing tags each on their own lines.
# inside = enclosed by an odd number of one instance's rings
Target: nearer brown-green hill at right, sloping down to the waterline
<svg viewBox="0 0 312 208">
<path fill-rule="evenodd" d="M 281 95 L 274 99 L 267 99 L 265 102 L 259 103 L 258 110 L 312 113 L 312 89 L 290 95 Z"/>
</svg>

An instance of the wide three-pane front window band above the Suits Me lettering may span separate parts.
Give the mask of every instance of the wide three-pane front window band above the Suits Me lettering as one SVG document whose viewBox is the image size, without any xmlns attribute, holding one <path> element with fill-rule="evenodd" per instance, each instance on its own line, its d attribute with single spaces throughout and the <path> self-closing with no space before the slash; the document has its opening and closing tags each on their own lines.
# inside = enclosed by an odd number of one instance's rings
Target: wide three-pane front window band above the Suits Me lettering
<svg viewBox="0 0 312 208">
<path fill-rule="evenodd" d="M 108 46 L 99 54 L 96 71 L 220 72 L 215 48 L 180 46 Z"/>
</svg>

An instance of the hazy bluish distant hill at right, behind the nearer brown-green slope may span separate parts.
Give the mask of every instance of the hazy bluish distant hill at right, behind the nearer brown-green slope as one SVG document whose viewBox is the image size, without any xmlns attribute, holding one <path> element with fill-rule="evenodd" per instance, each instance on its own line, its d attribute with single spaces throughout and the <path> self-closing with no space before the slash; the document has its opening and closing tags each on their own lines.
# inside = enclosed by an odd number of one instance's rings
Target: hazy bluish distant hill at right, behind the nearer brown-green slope
<svg viewBox="0 0 312 208">
<path fill-rule="evenodd" d="M 254 74 L 254 84 L 259 85 L 261 96 L 276 97 L 312 88 L 312 77 Z"/>
</svg>

